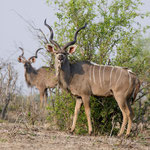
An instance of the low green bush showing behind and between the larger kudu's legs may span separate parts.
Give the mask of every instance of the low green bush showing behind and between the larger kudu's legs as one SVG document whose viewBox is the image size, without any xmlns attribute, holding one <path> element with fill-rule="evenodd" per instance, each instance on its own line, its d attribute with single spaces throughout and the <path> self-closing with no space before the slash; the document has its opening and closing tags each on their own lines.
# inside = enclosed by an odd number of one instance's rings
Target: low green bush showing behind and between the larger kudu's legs
<svg viewBox="0 0 150 150">
<path fill-rule="evenodd" d="M 53 97 L 54 98 L 54 97 Z M 112 124 L 121 123 L 122 115 L 116 101 L 113 98 L 97 98 L 91 97 L 91 120 L 93 125 L 93 133 L 110 134 Z M 73 121 L 75 108 L 75 98 L 69 93 L 63 92 L 55 95 L 54 106 L 49 105 L 48 120 L 56 125 L 59 130 L 70 130 Z M 112 122 L 113 121 L 113 122 Z M 116 134 L 117 129 L 113 129 Z M 78 120 L 76 123 L 76 134 L 87 134 L 88 125 L 84 107 L 81 107 Z"/>
</svg>

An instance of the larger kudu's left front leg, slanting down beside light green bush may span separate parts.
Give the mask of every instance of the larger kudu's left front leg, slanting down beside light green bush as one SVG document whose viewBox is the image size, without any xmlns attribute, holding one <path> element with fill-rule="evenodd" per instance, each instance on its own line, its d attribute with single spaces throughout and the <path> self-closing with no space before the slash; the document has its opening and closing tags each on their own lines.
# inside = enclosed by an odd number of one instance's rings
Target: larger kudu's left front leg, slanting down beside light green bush
<svg viewBox="0 0 150 150">
<path fill-rule="evenodd" d="M 73 124 L 71 127 L 71 133 L 74 131 L 75 126 L 76 126 L 76 122 L 77 122 L 77 118 L 78 118 L 78 114 L 80 111 L 82 105 L 82 99 L 76 99 L 76 106 L 75 106 L 75 111 L 74 111 L 74 117 L 73 117 Z"/>
</svg>

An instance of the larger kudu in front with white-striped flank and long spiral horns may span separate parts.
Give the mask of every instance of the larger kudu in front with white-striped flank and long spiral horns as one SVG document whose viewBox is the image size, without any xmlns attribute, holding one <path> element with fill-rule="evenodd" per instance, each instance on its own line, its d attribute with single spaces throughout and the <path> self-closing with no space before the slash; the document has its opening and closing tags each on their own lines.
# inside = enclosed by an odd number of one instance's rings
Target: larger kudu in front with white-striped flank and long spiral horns
<svg viewBox="0 0 150 150">
<path fill-rule="evenodd" d="M 127 68 L 117 66 L 97 65 L 91 62 L 79 61 L 71 64 L 68 60 L 68 54 L 72 54 L 76 46 L 73 45 L 77 41 L 77 34 L 81 29 L 78 29 L 74 36 L 74 41 L 67 43 L 64 47 L 53 40 L 53 30 L 46 23 L 45 25 L 50 30 L 50 44 L 47 44 L 47 51 L 55 54 L 55 69 L 58 83 L 62 89 L 71 92 L 76 96 L 76 106 L 73 118 L 71 132 L 75 129 L 78 113 L 81 104 L 84 104 L 85 113 L 88 121 L 88 132 L 92 133 L 91 112 L 90 112 L 90 96 L 114 96 L 123 115 L 123 123 L 118 136 L 121 136 L 128 123 L 126 136 L 130 134 L 133 111 L 130 105 L 131 98 L 134 100 L 140 88 L 140 81 L 136 75 Z M 72 46 L 73 45 L 73 46 Z M 70 47 L 69 47 L 70 46 Z M 67 48 L 69 51 L 67 52 Z"/>
</svg>

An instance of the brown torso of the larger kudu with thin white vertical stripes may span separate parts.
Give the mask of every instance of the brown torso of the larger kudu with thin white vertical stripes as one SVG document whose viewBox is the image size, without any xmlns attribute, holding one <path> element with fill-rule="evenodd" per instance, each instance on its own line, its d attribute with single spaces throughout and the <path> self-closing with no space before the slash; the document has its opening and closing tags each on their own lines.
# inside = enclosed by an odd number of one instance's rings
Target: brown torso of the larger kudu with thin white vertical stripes
<svg viewBox="0 0 150 150">
<path fill-rule="evenodd" d="M 89 93 L 104 97 L 121 93 L 135 99 L 140 87 L 140 81 L 132 71 L 116 66 L 78 62 L 71 65 L 71 76 L 69 88 L 75 95 L 79 91 L 81 95 Z"/>
</svg>

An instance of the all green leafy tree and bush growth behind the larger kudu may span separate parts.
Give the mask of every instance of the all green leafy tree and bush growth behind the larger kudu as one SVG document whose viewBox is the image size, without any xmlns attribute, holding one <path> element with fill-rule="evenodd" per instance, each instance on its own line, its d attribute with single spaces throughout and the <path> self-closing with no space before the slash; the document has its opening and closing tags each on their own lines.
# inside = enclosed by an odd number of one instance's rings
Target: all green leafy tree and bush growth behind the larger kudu
<svg viewBox="0 0 150 150">
<path fill-rule="evenodd" d="M 149 93 L 149 46 L 147 39 L 142 37 L 142 28 L 136 22 L 137 17 L 146 17 L 138 11 L 139 0 L 47 0 L 49 6 L 58 8 L 56 16 L 58 21 L 54 24 L 54 39 L 63 45 L 71 41 L 76 29 L 85 22 L 88 27 L 78 36 L 78 49 L 70 61 L 93 61 L 97 64 L 123 66 L 131 68 L 146 88 L 141 87 L 141 97 Z M 53 62 L 52 62 L 53 63 Z M 149 95 L 146 96 L 149 104 Z M 74 98 L 68 94 L 55 97 L 55 109 L 49 108 L 50 117 L 57 118 L 60 129 L 68 129 L 74 111 Z M 138 101 L 141 103 L 141 99 Z M 91 97 L 92 123 L 94 133 L 111 134 L 116 123 L 121 123 L 121 112 L 113 98 Z M 147 105 L 146 104 L 146 105 Z M 139 108 L 135 109 L 139 115 Z M 143 104 L 144 105 L 144 104 Z M 139 105 L 139 107 L 141 107 Z M 141 111 L 142 113 L 143 111 Z M 76 132 L 87 130 L 87 121 L 82 108 L 78 119 Z M 138 116 L 136 116 L 138 118 Z M 135 119 L 136 120 L 136 119 Z M 82 131 L 82 132 L 81 132 Z M 114 132 L 116 129 L 113 130 Z"/>
</svg>

